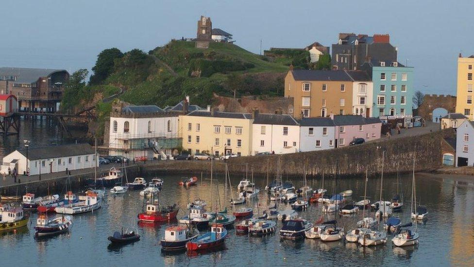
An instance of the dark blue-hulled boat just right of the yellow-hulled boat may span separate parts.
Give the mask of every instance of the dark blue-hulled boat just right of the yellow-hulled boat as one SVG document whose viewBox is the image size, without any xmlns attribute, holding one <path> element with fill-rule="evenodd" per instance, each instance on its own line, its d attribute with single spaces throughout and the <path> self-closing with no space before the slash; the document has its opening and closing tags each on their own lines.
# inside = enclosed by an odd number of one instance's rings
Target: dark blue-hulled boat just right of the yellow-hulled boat
<svg viewBox="0 0 474 267">
<path fill-rule="evenodd" d="M 36 226 L 34 227 L 34 236 L 50 236 L 69 231 L 72 226 L 71 216 L 59 216 L 52 220 L 48 220 L 46 214 L 40 214 L 36 219 Z"/>
</svg>

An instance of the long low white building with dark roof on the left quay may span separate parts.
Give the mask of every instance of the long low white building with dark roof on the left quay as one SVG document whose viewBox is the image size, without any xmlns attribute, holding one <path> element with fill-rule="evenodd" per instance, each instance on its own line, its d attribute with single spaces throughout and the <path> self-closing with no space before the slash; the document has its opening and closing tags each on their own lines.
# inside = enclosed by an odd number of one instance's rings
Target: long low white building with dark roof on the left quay
<svg viewBox="0 0 474 267">
<path fill-rule="evenodd" d="M 72 171 L 93 168 L 97 160 L 94 149 L 87 143 L 29 148 L 28 160 L 26 154 L 26 148 L 21 148 L 5 156 L 0 172 L 8 173 L 8 168 L 12 171 L 16 168 L 18 174 L 23 175 L 27 165 L 30 175 Z"/>
</svg>

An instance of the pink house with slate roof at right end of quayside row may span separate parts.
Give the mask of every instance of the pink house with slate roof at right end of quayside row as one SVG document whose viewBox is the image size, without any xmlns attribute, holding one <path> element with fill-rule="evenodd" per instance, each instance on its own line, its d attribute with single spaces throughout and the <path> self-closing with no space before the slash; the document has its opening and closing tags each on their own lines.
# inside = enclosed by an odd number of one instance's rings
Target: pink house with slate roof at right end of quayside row
<svg viewBox="0 0 474 267">
<path fill-rule="evenodd" d="M 364 118 L 358 115 L 331 115 L 336 125 L 336 147 L 347 146 L 355 138 L 363 138 L 365 142 L 379 139 L 382 122 L 378 118 Z"/>
</svg>

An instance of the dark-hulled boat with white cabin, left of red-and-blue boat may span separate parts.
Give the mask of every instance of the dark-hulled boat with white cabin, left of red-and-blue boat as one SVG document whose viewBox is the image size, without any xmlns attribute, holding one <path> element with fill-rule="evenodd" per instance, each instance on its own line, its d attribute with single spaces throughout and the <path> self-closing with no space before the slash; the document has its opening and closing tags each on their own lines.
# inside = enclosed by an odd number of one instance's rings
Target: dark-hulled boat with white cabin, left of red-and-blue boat
<svg viewBox="0 0 474 267">
<path fill-rule="evenodd" d="M 170 226 L 165 230 L 165 238 L 161 239 L 161 249 L 165 251 L 186 249 L 186 243 L 196 239 L 199 231 L 185 226 Z"/>
</svg>

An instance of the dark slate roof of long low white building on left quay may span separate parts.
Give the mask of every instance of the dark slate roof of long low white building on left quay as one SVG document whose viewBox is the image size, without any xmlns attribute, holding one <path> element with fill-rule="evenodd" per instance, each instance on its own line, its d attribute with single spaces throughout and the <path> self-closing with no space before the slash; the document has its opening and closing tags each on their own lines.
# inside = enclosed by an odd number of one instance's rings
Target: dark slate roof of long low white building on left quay
<svg viewBox="0 0 474 267">
<path fill-rule="evenodd" d="M 26 148 L 17 149 L 26 157 Z M 28 148 L 29 160 L 52 159 L 94 154 L 94 148 L 88 143 L 65 144 L 47 147 Z"/>
</svg>

